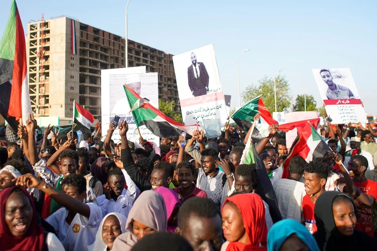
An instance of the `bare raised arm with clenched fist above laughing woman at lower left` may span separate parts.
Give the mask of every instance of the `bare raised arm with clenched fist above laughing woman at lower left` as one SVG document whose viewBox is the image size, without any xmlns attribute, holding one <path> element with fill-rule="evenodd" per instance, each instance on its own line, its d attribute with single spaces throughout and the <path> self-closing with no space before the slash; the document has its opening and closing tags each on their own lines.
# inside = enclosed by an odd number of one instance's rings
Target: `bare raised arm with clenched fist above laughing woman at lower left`
<svg viewBox="0 0 377 251">
<path fill-rule="evenodd" d="M 72 196 L 65 194 L 62 191 L 56 190 L 48 183 L 39 180 L 32 174 L 21 175 L 13 181 L 16 181 L 17 186 L 26 186 L 27 188 L 38 188 L 39 190 L 50 196 L 52 199 L 56 200 L 56 202 L 58 202 L 60 205 L 67 208 L 68 210 L 77 212 L 85 216 L 86 218 L 89 218 L 90 216 L 90 208 L 88 205 L 82 203 L 82 201 L 78 199 L 73 198 Z"/>
</svg>

